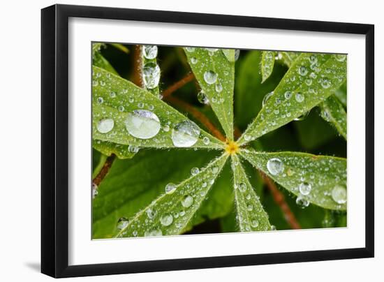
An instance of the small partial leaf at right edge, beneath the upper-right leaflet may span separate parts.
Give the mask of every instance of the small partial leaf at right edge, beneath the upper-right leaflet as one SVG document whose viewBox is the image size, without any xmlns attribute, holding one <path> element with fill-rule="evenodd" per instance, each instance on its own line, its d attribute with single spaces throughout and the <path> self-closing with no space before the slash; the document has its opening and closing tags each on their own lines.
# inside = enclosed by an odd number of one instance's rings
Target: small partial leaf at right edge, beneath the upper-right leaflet
<svg viewBox="0 0 384 282">
<path fill-rule="evenodd" d="M 320 103 L 321 117 L 334 125 L 341 136 L 347 140 L 347 113 L 341 102 L 330 96 L 323 103 Z"/>
</svg>

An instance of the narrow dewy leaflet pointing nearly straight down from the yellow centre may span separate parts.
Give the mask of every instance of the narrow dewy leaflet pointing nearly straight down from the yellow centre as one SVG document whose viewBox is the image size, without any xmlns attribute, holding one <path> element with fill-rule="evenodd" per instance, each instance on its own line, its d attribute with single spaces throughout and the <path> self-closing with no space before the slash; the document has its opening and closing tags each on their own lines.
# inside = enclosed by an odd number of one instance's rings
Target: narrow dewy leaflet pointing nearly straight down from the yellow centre
<svg viewBox="0 0 384 282">
<path fill-rule="evenodd" d="M 258 195 L 253 190 L 239 157 L 236 155 L 232 155 L 232 171 L 239 230 L 242 232 L 270 230 L 268 215 L 263 209 Z"/>
</svg>

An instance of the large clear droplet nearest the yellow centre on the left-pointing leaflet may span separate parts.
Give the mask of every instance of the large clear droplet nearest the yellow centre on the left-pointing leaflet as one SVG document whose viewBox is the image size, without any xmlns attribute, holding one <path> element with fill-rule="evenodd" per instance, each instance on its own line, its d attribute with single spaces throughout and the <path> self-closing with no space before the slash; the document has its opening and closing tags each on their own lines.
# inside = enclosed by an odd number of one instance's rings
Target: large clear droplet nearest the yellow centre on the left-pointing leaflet
<svg viewBox="0 0 384 282">
<path fill-rule="evenodd" d="M 182 121 L 172 129 L 172 142 L 176 147 L 191 147 L 200 135 L 200 128 L 193 121 Z"/>
</svg>

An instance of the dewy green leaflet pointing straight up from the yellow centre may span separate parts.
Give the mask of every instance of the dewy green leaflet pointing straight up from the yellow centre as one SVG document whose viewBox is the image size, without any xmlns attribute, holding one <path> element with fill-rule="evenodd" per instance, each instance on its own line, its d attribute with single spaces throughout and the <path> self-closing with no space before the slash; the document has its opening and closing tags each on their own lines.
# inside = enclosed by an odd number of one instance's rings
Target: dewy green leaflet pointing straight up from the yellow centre
<svg viewBox="0 0 384 282">
<path fill-rule="evenodd" d="M 186 47 L 189 65 L 209 104 L 218 117 L 227 138 L 233 138 L 233 87 L 235 83 L 235 51 Z M 230 59 L 227 58 L 230 57 Z M 235 57 L 233 57 L 235 58 Z"/>
</svg>

